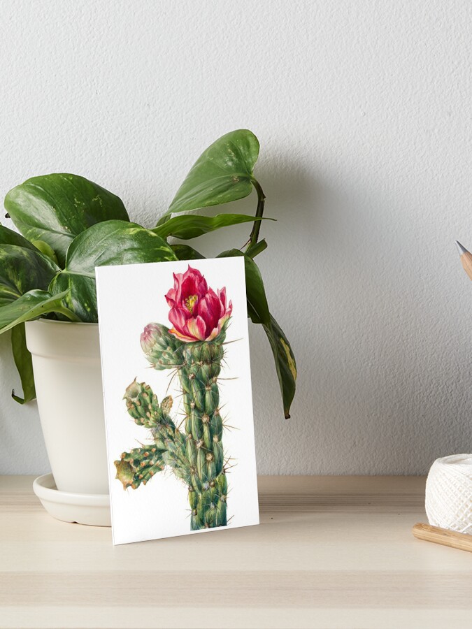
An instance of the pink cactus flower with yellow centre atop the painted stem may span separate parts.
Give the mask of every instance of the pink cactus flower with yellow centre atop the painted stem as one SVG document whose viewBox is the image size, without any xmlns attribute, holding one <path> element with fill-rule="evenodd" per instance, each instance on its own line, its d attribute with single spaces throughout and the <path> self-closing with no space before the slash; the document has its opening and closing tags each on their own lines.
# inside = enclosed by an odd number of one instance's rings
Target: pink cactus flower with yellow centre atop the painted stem
<svg viewBox="0 0 472 629">
<path fill-rule="evenodd" d="M 231 301 L 226 303 L 226 288 L 215 294 L 200 271 L 191 266 L 185 273 L 173 274 L 173 289 L 166 294 L 166 300 L 171 307 L 170 332 L 185 342 L 212 340 L 233 310 Z"/>
</svg>

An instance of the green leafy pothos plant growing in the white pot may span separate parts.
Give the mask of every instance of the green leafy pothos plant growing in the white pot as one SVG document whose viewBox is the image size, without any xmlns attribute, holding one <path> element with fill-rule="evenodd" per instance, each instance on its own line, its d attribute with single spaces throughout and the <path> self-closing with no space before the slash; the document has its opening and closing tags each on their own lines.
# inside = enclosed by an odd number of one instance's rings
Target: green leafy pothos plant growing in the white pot
<svg viewBox="0 0 472 629">
<path fill-rule="evenodd" d="M 203 259 L 178 240 L 192 240 L 223 227 L 252 223 L 247 243 L 218 257 L 243 256 L 248 315 L 262 325 L 271 345 L 285 417 L 294 398 L 296 363 L 285 333 L 269 311 L 255 257 L 267 247 L 259 239 L 264 192 L 254 175 L 259 141 L 238 129 L 210 145 L 192 166 L 169 209 L 153 229 L 131 222 L 119 197 L 79 175 L 33 177 L 8 192 L 6 218 L 20 233 L 0 225 L 0 333 L 12 330 L 23 404 L 36 397 L 24 322 L 45 317 L 96 322 L 95 267 Z M 255 216 L 194 212 L 257 193 Z"/>
</svg>

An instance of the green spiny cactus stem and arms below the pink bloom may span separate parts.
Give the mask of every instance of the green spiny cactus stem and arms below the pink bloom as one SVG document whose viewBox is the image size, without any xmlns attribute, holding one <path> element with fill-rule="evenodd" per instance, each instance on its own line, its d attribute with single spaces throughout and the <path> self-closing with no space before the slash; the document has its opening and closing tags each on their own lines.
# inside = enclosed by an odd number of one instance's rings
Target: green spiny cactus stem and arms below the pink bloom
<svg viewBox="0 0 472 629">
<path fill-rule="evenodd" d="M 115 461 L 116 477 L 124 489 L 136 489 L 157 472 L 171 468 L 188 488 L 191 530 L 227 524 L 228 484 L 218 377 L 228 321 L 216 338 L 197 342 L 182 342 L 161 324 L 145 328 L 141 345 L 148 361 L 157 370 L 178 373 L 185 433 L 170 417 L 170 396 L 159 405 L 150 386 L 136 380 L 124 394 L 129 415 L 136 424 L 150 429 L 153 443 L 124 452 L 120 461 Z"/>
</svg>

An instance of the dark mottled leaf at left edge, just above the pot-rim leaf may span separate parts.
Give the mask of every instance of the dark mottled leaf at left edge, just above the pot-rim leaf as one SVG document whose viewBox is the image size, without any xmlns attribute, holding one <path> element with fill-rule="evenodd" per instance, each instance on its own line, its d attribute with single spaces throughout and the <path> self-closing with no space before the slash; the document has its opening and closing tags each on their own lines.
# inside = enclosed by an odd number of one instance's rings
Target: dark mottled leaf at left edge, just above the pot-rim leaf
<svg viewBox="0 0 472 629">
<path fill-rule="evenodd" d="M 59 267 L 34 247 L 0 245 L 0 307 L 31 289 L 47 289 Z"/>
</svg>

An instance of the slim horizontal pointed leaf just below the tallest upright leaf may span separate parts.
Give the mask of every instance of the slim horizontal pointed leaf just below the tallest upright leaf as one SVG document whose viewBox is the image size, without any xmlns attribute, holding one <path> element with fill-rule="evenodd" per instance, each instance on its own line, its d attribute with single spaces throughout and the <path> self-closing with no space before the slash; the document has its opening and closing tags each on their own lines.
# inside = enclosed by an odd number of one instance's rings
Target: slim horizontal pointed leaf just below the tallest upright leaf
<svg viewBox="0 0 472 629">
<path fill-rule="evenodd" d="M 217 214 L 216 216 L 185 214 L 183 216 L 174 216 L 161 226 L 155 227 L 152 231 L 161 236 L 161 238 L 173 236 L 173 238 L 189 240 L 190 238 L 203 236 L 204 233 L 209 231 L 215 231 L 215 229 L 241 223 L 252 223 L 255 220 L 260 221 L 262 219 L 247 214 Z"/>
</svg>

